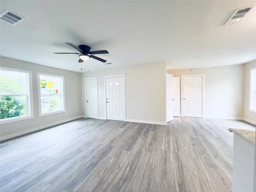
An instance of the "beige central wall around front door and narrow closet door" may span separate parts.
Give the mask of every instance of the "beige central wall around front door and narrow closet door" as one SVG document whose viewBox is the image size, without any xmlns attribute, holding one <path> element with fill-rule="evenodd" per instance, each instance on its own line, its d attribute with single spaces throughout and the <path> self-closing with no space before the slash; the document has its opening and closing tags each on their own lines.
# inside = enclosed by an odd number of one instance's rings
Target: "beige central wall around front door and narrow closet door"
<svg viewBox="0 0 256 192">
<path fill-rule="evenodd" d="M 86 72 L 81 76 L 98 78 L 98 114 L 104 117 L 104 76 L 125 74 L 126 80 L 126 120 L 140 122 L 166 122 L 166 64 L 155 63 L 129 68 L 116 68 L 99 72 Z M 84 84 L 82 84 L 82 113 L 85 112 Z"/>
</svg>

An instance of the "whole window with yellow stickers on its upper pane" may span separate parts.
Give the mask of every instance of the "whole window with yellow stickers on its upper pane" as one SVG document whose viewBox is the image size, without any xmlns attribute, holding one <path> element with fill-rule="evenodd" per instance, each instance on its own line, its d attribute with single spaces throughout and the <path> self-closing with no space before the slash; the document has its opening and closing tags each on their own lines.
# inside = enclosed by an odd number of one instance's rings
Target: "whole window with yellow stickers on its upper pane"
<svg viewBox="0 0 256 192">
<path fill-rule="evenodd" d="M 39 116 L 65 112 L 64 76 L 38 73 Z"/>
</svg>

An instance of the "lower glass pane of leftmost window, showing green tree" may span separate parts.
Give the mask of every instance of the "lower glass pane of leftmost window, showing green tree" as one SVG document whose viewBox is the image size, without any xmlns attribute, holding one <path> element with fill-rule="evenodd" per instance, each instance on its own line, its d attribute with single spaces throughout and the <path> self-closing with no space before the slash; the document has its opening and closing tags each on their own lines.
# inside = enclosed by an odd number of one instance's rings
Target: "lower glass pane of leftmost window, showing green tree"
<svg viewBox="0 0 256 192">
<path fill-rule="evenodd" d="M 0 119 L 26 116 L 26 96 L 0 96 Z"/>
</svg>

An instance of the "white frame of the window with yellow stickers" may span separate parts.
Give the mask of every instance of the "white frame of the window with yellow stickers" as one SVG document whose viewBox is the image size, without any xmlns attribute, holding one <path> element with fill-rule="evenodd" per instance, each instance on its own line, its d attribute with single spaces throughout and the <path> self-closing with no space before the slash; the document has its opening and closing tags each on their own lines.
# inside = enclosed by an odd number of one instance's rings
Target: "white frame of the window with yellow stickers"
<svg viewBox="0 0 256 192">
<path fill-rule="evenodd" d="M 62 78 L 62 96 L 63 96 L 63 110 L 60 111 L 54 111 L 54 112 L 48 112 L 42 114 L 42 108 L 41 108 L 41 90 L 40 90 L 40 75 L 44 76 L 51 76 L 51 77 L 58 77 Z M 52 115 L 52 114 L 58 114 L 58 113 L 63 113 L 66 112 L 66 101 L 65 101 L 65 78 L 64 76 L 60 75 L 54 75 L 54 74 L 46 74 L 46 73 L 37 73 L 37 84 L 38 84 L 38 109 L 39 109 L 39 116 L 47 116 L 47 115 Z"/>
</svg>

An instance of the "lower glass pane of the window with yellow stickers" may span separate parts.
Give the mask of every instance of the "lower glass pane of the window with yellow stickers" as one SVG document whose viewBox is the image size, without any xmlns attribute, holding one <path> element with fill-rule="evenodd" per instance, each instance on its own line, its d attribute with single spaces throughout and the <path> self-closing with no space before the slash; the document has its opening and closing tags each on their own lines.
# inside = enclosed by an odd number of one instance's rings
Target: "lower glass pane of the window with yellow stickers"
<svg viewBox="0 0 256 192">
<path fill-rule="evenodd" d="M 62 99 L 59 94 L 41 95 L 42 114 L 63 110 L 61 101 Z"/>
</svg>

